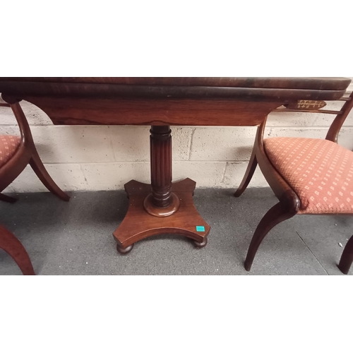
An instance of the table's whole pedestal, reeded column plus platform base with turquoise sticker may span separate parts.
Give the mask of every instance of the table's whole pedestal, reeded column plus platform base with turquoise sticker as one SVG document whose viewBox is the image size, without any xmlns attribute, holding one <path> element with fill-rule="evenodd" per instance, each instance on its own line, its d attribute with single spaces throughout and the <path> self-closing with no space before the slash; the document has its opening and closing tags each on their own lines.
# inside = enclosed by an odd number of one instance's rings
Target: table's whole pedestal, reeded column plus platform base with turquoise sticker
<svg viewBox="0 0 353 353">
<path fill-rule="evenodd" d="M 196 182 L 185 179 L 172 184 L 172 136 L 169 126 L 150 129 L 151 184 L 131 180 L 125 184 L 128 212 L 113 233 L 121 254 L 140 239 L 157 234 L 182 234 L 202 248 L 210 226 L 193 203 Z"/>
</svg>

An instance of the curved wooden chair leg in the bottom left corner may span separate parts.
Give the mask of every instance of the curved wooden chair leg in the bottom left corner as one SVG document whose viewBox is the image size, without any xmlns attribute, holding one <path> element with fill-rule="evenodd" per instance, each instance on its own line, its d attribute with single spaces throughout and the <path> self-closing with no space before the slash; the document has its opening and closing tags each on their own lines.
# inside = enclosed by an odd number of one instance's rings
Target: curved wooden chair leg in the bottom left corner
<svg viewBox="0 0 353 353">
<path fill-rule="evenodd" d="M 18 264 L 23 275 L 35 275 L 30 256 L 21 242 L 5 227 L 0 225 L 0 249 L 3 249 Z"/>
</svg>

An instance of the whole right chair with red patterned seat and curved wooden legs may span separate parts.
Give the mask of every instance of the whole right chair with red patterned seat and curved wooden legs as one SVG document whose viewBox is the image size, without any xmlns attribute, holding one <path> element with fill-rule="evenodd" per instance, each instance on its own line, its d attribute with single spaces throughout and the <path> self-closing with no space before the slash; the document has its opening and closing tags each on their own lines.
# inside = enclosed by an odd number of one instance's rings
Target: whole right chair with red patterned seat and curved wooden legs
<svg viewBox="0 0 353 353">
<path fill-rule="evenodd" d="M 251 269 L 253 258 L 265 235 L 278 223 L 294 215 L 353 214 L 353 152 L 337 145 L 337 136 L 353 107 L 353 92 L 340 112 L 332 110 L 277 109 L 287 112 L 336 114 L 325 140 L 318 138 L 263 139 L 267 118 L 258 126 L 253 152 L 244 179 L 234 196 L 244 192 L 257 164 L 279 203 L 270 208 L 258 224 L 244 267 Z M 309 101 L 310 103 L 310 101 Z M 322 107 L 325 102 L 316 102 Z M 310 104 L 309 104 L 310 105 Z M 353 261 L 353 236 L 342 253 L 338 268 L 347 274 Z"/>
</svg>

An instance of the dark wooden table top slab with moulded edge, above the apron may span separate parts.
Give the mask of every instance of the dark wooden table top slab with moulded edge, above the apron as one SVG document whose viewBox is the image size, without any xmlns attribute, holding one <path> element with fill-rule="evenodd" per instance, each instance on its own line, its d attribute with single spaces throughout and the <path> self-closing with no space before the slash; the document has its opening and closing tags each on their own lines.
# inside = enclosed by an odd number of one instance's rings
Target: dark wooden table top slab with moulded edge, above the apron
<svg viewBox="0 0 353 353">
<path fill-rule="evenodd" d="M 336 100 L 350 82 L 349 78 L 334 77 L 9 77 L 0 78 L 0 92 L 30 96 Z"/>
</svg>

